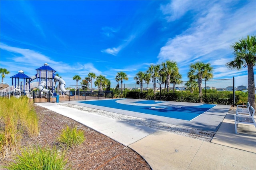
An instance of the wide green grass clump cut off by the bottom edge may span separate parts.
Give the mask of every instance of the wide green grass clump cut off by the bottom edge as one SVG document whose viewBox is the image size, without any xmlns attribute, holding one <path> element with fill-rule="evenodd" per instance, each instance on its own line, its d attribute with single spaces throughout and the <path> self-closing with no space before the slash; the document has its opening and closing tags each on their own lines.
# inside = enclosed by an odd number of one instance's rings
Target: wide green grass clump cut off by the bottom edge
<svg viewBox="0 0 256 170">
<path fill-rule="evenodd" d="M 67 169 L 65 153 L 56 148 L 40 146 L 26 148 L 22 151 L 15 162 L 4 168 L 8 170 L 64 170 Z"/>
</svg>

